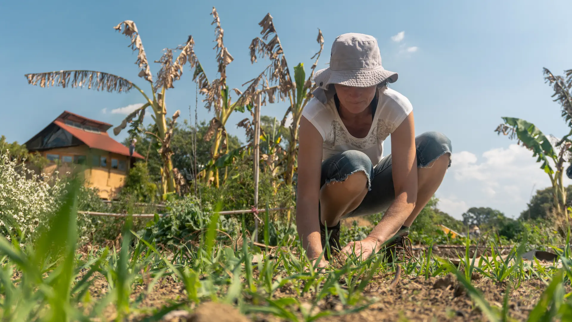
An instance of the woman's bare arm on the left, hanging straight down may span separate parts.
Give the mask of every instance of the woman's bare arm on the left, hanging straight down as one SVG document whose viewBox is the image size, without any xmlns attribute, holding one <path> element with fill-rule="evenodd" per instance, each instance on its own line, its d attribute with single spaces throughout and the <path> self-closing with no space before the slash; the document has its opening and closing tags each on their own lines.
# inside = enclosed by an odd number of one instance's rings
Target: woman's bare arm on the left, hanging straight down
<svg viewBox="0 0 572 322">
<path fill-rule="evenodd" d="M 296 226 L 308 258 L 314 259 L 322 251 L 318 202 L 323 139 L 304 116 L 300 120 L 299 133 Z"/>
</svg>

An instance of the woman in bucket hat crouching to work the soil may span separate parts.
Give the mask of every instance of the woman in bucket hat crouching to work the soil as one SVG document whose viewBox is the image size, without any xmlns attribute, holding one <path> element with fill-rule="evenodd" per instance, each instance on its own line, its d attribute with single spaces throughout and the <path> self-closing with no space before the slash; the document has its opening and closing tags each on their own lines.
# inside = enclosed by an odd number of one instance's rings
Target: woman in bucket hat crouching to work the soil
<svg viewBox="0 0 572 322">
<path fill-rule="evenodd" d="M 410 101 L 387 88 L 397 78 L 383 69 L 375 38 L 356 33 L 337 37 L 329 68 L 316 72 L 319 87 L 300 121 L 296 224 L 319 266 L 327 264 L 326 227 L 331 253 L 367 258 L 390 241 L 390 261 L 411 256 L 408 229 L 450 166 L 446 136 L 415 136 Z M 388 136 L 391 154 L 382 158 Z M 340 219 L 382 211 L 365 239 L 341 248 Z"/>
</svg>

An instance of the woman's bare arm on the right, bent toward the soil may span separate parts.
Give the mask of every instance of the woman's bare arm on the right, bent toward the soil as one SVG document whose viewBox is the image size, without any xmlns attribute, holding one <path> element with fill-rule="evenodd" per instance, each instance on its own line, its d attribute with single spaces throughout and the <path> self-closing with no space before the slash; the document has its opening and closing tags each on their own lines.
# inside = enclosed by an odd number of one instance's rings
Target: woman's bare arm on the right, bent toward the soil
<svg viewBox="0 0 572 322">
<path fill-rule="evenodd" d="M 415 123 L 413 112 L 391 133 L 391 173 L 395 201 L 382 221 L 368 237 L 375 238 L 380 247 L 398 232 L 415 208 L 417 200 L 417 158 L 415 154 Z"/>
</svg>

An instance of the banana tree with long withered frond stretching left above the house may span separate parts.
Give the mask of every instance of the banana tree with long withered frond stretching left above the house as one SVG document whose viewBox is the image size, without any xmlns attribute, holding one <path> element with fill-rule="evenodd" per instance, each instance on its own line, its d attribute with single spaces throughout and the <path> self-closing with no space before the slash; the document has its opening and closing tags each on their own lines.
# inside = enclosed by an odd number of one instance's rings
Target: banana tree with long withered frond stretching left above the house
<svg viewBox="0 0 572 322">
<path fill-rule="evenodd" d="M 97 91 L 108 91 L 117 93 L 126 93 L 131 89 L 136 89 L 145 99 L 145 104 L 130 113 L 121 125 L 113 129 L 115 135 L 118 135 L 128 123 L 131 124 L 130 134 L 133 136 L 142 124 L 145 116 L 145 109 L 151 107 L 153 109 L 153 120 L 156 125 L 156 132 L 153 133 L 160 144 L 161 155 L 161 186 L 162 194 L 174 192 L 174 178 L 173 178 L 173 164 L 171 156 L 173 155 L 170 149 L 170 138 L 172 136 L 172 129 L 174 121 L 177 119 L 179 112 L 174 113 L 172 120 L 168 124 L 166 121 L 166 104 L 165 92 L 169 88 L 174 88 L 174 81 L 181 78 L 183 66 L 188 62 L 191 68 L 202 70 L 196 55 L 194 54 L 193 37 L 189 36 L 184 45 L 178 46 L 175 49 L 165 49 L 164 54 L 158 61 L 161 68 L 157 72 L 157 80 L 153 84 L 153 76 L 149 68 L 149 62 L 141 42 L 141 37 L 137 30 L 135 22 L 126 20 L 119 23 L 114 27 L 115 30 L 121 32 L 126 37 L 130 38 L 130 47 L 133 51 L 138 52 L 135 64 L 141 68 L 138 76 L 149 82 L 151 95 L 148 96 L 140 87 L 132 81 L 110 73 L 97 72 L 94 70 L 60 70 L 59 72 L 46 72 L 46 73 L 31 73 L 26 74 L 28 84 L 39 85 L 40 87 L 61 86 L 72 88 L 97 89 Z M 177 58 L 173 61 L 173 50 L 180 50 Z M 205 78 L 198 77 L 195 73 L 193 80 L 197 81 L 200 87 L 204 87 Z M 134 120 L 137 117 L 136 120 Z"/>
</svg>

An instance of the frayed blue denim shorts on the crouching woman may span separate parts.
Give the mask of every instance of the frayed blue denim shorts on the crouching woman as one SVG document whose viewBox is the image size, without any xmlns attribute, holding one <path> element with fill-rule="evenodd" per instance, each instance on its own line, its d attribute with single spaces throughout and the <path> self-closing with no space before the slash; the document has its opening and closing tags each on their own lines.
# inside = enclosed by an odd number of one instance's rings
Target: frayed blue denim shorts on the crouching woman
<svg viewBox="0 0 572 322">
<path fill-rule="evenodd" d="M 417 167 L 426 168 L 439 156 L 451 154 L 451 140 L 439 132 L 425 132 L 415 138 L 415 149 Z M 451 166 L 451 161 L 449 161 L 449 166 Z M 362 203 L 344 218 L 386 211 L 395 199 L 391 154 L 383 158 L 375 167 L 362 151 L 348 150 L 331 156 L 322 163 L 320 187 L 329 182 L 343 181 L 356 171 L 366 173 L 369 191 Z"/>
</svg>

